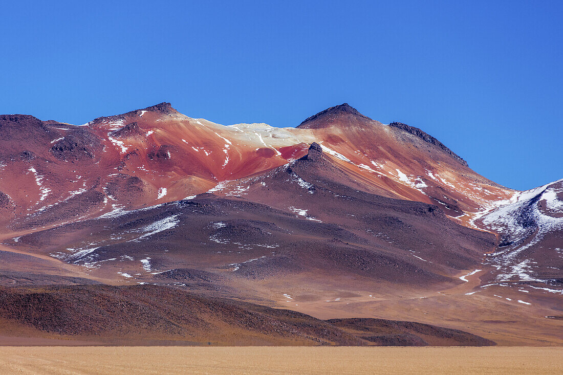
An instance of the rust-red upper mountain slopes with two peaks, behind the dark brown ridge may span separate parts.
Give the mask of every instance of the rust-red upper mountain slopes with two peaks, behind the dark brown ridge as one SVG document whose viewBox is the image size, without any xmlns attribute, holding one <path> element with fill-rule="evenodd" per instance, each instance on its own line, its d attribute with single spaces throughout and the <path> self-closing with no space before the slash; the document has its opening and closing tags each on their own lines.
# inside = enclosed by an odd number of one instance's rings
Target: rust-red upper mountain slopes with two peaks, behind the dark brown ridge
<svg viewBox="0 0 563 375">
<path fill-rule="evenodd" d="M 473 212 L 484 203 L 513 194 L 426 133 L 385 126 L 348 105 L 283 129 L 221 126 L 186 117 L 167 103 L 79 127 L 24 115 L 0 121 L 0 191 L 5 225 L 15 219 L 12 230 L 203 193 L 302 157 L 314 141 L 365 189 L 438 204 L 463 225 L 473 225 Z M 32 142 L 14 136 L 22 127 Z"/>
</svg>

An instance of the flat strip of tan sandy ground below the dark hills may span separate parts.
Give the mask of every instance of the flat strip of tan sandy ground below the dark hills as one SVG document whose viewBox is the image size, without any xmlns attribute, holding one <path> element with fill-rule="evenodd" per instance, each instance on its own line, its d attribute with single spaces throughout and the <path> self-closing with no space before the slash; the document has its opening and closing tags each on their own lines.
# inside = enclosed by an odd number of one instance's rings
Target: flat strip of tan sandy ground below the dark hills
<svg viewBox="0 0 563 375">
<path fill-rule="evenodd" d="M 557 374 L 563 347 L 0 347 L 2 374 Z"/>
</svg>

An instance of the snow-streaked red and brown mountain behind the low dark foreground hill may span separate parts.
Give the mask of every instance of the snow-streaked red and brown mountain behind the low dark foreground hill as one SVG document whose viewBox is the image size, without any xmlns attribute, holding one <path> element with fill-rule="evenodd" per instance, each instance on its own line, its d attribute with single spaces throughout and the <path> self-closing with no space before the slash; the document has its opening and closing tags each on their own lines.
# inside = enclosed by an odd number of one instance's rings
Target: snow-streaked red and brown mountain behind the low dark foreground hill
<svg viewBox="0 0 563 375">
<path fill-rule="evenodd" d="M 348 104 L 295 128 L 169 103 L 81 126 L 3 115 L 0 285 L 144 284 L 553 345 L 562 192 L 498 185 Z"/>
</svg>

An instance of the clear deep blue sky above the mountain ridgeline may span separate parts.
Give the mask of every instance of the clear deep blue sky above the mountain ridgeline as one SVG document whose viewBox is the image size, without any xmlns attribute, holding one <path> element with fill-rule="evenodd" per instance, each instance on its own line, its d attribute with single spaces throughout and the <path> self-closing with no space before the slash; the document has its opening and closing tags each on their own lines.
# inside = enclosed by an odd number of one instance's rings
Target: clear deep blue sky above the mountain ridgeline
<svg viewBox="0 0 563 375">
<path fill-rule="evenodd" d="M 508 187 L 563 178 L 560 1 L 17 1 L 0 14 L 0 113 L 82 124 L 169 101 L 286 127 L 348 102 Z"/>
</svg>

